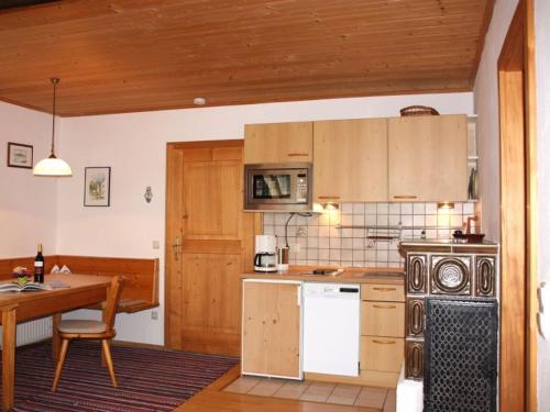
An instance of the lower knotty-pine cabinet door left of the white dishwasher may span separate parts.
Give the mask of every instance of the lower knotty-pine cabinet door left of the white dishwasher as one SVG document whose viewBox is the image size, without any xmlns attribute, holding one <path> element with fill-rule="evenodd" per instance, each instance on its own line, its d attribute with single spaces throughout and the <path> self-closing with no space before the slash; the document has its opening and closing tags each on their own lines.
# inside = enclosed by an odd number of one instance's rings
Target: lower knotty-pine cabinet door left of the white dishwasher
<svg viewBox="0 0 550 412">
<path fill-rule="evenodd" d="M 243 281 L 242 372 L 301 378 L 300 286 Z"/>
</svg>

